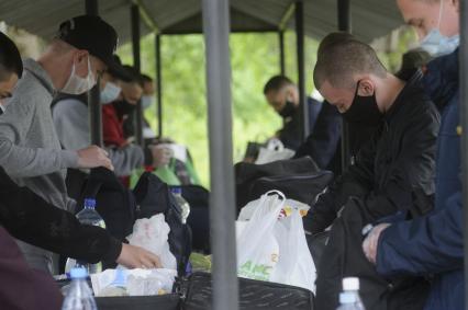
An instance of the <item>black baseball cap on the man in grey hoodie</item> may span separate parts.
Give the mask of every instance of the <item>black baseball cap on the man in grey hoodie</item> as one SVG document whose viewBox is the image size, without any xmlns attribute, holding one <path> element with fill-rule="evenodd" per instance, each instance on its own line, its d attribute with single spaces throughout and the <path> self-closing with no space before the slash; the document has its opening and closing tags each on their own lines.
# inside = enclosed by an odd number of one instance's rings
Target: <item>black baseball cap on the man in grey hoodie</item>
<svg viewBox="0 0 468 310">
<path fill-rule="evenodd" d="M 115 30 L 104 20 L 93 15 L 80 15 L 65 21 L 58 27 L 56 38 L 69 45 L 86 49 L 108 66 L 112 74 L 127 80 L 129 74 L 115 61 L 114 53 L 119 43 Z"/>
</svg>

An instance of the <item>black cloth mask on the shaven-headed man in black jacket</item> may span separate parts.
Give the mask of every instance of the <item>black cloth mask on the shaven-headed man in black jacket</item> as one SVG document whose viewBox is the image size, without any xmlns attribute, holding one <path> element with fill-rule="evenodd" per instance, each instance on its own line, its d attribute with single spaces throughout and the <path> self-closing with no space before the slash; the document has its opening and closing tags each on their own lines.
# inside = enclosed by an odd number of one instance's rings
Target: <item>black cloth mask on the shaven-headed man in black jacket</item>
<svg viewBox="0 0 468 310">
<path fill-rule="evenodd" d="M 374 91 L 372 95 L 358 95 L 357 90 L 359 89 L 359 82 L 357 82 L 352 105 L 342 115 L 348 123 L 377 125 L 381 122 L 383 114 L 379 111 L 379 106 L 377 105 L 376 91 Z"/>
</svg>

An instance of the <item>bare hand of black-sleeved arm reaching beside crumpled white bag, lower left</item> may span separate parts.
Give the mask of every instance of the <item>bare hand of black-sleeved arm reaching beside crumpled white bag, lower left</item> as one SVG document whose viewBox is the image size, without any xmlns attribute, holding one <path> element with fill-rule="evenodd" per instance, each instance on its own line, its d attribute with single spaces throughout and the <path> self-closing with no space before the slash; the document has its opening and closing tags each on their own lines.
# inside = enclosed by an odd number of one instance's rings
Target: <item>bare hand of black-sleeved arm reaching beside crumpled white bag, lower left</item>
<svg viewBox="0 0 468 310">
<path fill-rule="evenodd" d="M 143 248 L 122 243 L 122 251 L 116 262 L 127 268 L 161 268 L 157 255 Z"/>
</svg>

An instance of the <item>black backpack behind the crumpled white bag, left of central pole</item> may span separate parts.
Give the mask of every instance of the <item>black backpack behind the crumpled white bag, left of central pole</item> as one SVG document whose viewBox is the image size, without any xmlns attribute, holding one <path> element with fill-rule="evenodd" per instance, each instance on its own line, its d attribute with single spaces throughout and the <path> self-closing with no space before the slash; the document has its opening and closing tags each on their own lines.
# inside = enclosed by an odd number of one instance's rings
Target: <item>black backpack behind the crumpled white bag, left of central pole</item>
<svg viewBox="0 0 468 310">
<path fill-rule="evenodd" d="M 133 193 L 138 205 L 137 218 L 164 214 L 170 228 L 170 252 L 176 256 L 179 275 L 185 275 L 191 253 L 191 230 L 187 223 L 182 223 L 182 210 L 170 193 L 169 186 L 155 174 L 145 172 Z"/>
</svg>

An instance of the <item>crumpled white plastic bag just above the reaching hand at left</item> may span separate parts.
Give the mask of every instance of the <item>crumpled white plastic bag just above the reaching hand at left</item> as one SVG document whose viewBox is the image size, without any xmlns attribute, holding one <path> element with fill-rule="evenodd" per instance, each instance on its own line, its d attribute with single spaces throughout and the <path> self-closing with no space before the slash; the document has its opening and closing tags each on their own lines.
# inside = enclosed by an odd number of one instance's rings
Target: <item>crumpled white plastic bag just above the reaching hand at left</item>
<svg viewBox="0 0 468 310">
<path fill-rule="evenodd" d="M 159 256 L 163 268 L 177 269 L 176 257 L 170 253 L 168 236 L 170 228 L 164 215 L 142 218 L 135 221 L 133 232 L 126 239 L 130 244 L 142 246 Z"/>
</svg>

